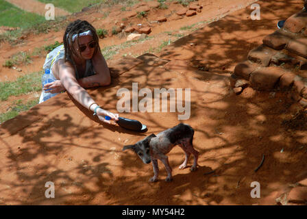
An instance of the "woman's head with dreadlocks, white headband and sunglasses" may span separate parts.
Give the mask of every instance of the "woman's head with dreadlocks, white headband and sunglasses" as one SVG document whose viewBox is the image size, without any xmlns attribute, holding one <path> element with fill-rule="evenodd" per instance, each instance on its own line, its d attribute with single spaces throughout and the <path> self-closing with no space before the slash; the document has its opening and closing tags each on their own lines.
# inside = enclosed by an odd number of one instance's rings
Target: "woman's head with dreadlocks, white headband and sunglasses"
<svg viewBox="0 0 307 219">
<path fill-rule="evenodd" d="M 100 50 L 98 41 L 96 29 L 90 23 L 81 20 L 73 21 L 67 26 L 63 37 L 65 61 L 66 55 L 90 59 Z"/>
</svg>

